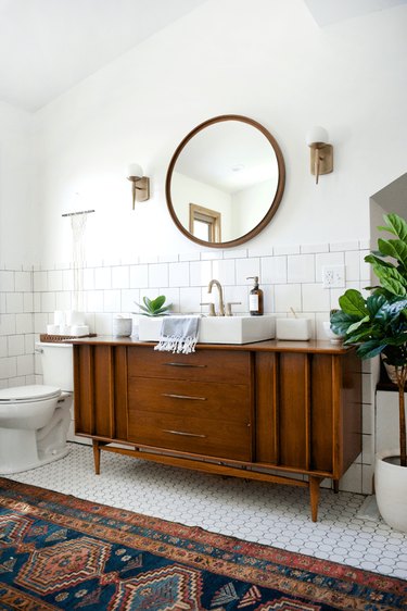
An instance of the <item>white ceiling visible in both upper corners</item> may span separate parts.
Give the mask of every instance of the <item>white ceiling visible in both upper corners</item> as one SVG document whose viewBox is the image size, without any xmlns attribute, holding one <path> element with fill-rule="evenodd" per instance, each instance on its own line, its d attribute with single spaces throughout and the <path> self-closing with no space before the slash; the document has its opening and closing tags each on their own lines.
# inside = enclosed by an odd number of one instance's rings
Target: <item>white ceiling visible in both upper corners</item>
<svg viewBox="0 0 407 611">
<path fill-rule="evenodd" d="M 407 2 L 304 1 L 320 27 Z M 205 2 L 0 0 L 0 101 L 35 112 Z"/>
</svg>

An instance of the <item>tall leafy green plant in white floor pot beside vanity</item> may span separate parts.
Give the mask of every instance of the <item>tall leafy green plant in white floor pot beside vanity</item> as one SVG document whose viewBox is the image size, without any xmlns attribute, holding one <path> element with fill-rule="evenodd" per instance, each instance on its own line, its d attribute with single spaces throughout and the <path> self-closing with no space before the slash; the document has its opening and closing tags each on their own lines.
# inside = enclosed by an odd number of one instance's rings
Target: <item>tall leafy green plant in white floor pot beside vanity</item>
<svg viewBox="0 0 407 611">
<path fill-rule="evenodd" d="M 331 315 L 331 328 L 345 344 L 357 345 L 361 359 L 381 356 L 394 371 L 398 389 L 399 449 L 377 456 L 374 487 L 384 521 L 407 532 L 407 451 L 405 386 L 407 382 L 407 223 L 397 214 L 384 215 L 378 227 L 395 238 L 379 239 L 378 250 L 365 257 L 379 285 L 364 297 L 348 289 L 340 297 L 340 310 Z"/>
</svg>

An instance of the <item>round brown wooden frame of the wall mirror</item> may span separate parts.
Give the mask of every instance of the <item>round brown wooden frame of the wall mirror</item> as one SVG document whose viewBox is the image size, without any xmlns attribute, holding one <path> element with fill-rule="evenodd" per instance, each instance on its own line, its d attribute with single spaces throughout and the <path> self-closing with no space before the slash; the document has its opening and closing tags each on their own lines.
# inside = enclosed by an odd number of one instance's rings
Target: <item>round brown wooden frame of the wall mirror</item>
<svg viewBox="0 0 407 611">
<path fill-rule="evenodd" d="M 252 127 L 255 127 L 256 129 L 262 132 L 262 134 L 270 142 L 270 146 L 272 147 L 274 152 L 276 154 L 277 165 L 278 165 L 278 183 L 277 183 L 276 195 L 275 195 L 275 197 L 274 197 L 274 199 L 270 203 L 270 208 L 268 209 L 267 213 L 262 219 L 262 221 L 257 225 L 255 225 L 255 227 L 253 227 L 253 229 L 251 229 L 250 232 L 247 232 L 243 236 L 240 236 L 239 238 L 236 238 L 236 239 L 232 239 L 232 240 L 229 240 L 229 241 L 211 242 L 211 241 L 205 241 L 205 240 L 202 240 L 200 238 L 196 238 L 195 236 L 193 236 L 188 230 L 187 227 L 185 227 L 182 225 L 182 223 L 180 223 L 180 221 L 179 221 L 179 219 L 178 219 L 178 216 L 175 212 L 175 209 L 174 209 L 174 205 L 173 205 L 173 200 L 171 200 L 171 192 L 170 192 L 171 191 L 171 178 L 173 178 L 173 172 L 174 172 L 175 164 L 177 163 L 177 160 L 178 160 L 180 153 L 182 152 L 183 148 L 186 147 L 186 145 L 199 132 L 202 132 L 203 129 L 205 129 L 205 127 L 214 125 L 215 123 L 221 123 L 224 121 L 241 121 L 242 123 L 246 123 L 249 125 L 252 125 Z M 277 144 L 277 140 L 271 136 L 271 134 L 260 123 L 257 123 L 253 119 L 249 119 L 246 116 L 242 116 L 242 115 L 239 115 L 239 114 L 224 114 L 224 115 L 215 116 L 214 119 L 209 119 L 207 121 L 204 121 L 203 123 L 198 125 L 198 127 L 192 129 L 192 132 L 190 132 L 183 138 L 183 140 L 181 140 L 181 142 L 177 147 L 177 149 L 176 149 L 176 151 L 175 151 L 175 153 L 174 153 L 174 155 L 173 155 L 173 158 L 169 162 L 169 165 L 168 165 L 167 177 L 166 177 L 166 182 L 165 182 L 165 195 L 166 195 L 166 199 L 167 199 L 167 207 L 168 207 L 169 214 L 170 214 L 174 223 L 178 227 L 178 229 L 185 236 L 187 236 L 187 238 L 189 238 L 190 240 L 192 240 L 196 244 L 200 244 L 201 246 L 205 246 L 205 247 L 209 247 L 209 248 L 229 248 L 229 247 L 239 246 L 239 245 L 241 245 L 245 241 L 249 241 L 250 239 L 257 236 L 266 227 L 266 225 L 268 225 L 268 223 L 271 221 L 272 216 L 276 214 L 278 207 L 280 205 L 281 198 L 282 198 L 282 195 L 284 192 L 284 185 L 285 185 L 284 158 L 282 155 L 282 152 L 281 152 L 281 149 L 280 149 L 279 145 Z"/>
</svg>

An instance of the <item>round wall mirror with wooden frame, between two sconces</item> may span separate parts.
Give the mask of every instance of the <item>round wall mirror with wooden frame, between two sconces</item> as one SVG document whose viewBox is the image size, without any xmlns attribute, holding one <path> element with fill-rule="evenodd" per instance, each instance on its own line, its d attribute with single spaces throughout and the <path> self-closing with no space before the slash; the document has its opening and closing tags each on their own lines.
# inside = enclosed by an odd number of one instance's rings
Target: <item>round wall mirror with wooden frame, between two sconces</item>
<svg viewBox="0 0 407 611">
<path fill-rule="evenodd" d="M 284 190 L 284 160 L 259 123 L 228 114 L 205 121 L 175 151 L 166 179 L 169 213 L 203 246 L 237 246 L 272 219 Z"/>
</svg>

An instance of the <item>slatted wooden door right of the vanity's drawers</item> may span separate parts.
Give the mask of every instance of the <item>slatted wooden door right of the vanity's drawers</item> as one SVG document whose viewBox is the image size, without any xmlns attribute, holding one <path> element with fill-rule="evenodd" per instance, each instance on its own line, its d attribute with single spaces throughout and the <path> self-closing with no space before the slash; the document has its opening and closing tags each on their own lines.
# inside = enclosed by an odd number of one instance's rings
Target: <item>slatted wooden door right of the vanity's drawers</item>
<svg viewBox="0 0 407 611">
<path fill-rule="evenodd" d="M 257 462 L 333 472 L 340 375 L 331 354 L 256 354 Z"/>
</svg>

